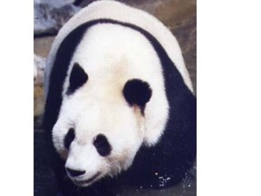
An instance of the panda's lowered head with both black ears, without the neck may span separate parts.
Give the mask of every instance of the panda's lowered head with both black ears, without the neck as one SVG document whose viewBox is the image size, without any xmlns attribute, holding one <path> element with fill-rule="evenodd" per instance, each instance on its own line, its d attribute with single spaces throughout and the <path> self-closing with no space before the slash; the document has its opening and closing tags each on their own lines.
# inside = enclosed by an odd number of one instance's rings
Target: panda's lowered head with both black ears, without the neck
<svg viewBox="0 0 261 196">
<path fill-rule="evenodd" d="M 150 84 L 137 78 L 113 88 L 93 84 L 81 64 L 73 63 L 53 144 L 76 185 L 89 186 L 129 168 L 143 141 L 144 109 L 151 95 Z"/>
</svg>

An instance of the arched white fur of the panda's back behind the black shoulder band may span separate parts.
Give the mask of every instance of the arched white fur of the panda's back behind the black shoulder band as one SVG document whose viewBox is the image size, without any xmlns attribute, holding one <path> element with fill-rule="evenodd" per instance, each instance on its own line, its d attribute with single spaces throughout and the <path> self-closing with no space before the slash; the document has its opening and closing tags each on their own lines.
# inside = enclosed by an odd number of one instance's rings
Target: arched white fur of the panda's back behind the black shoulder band
<svg viewBox="0 0 261 196">
<path fill-rule="evenodd" d="M 44 89 L 46 93 L 48 92 L 48 78 L 53 67 L 54 57 L 59 45 L 63 42 L 63 39 L 75 27 L 88 21 L 100 18 L 111 18 L 121 22 L 138 25 L 150 32 L 150 34 L 154 35 L 166 50 L 167 54 L 169 54 L 169 58 L 177 66 L 190 91 L 193 91 L 192 83 L 189 79 L 189 73 L 184 64 L 179 44 L 165 25 L 160 23 L 160 21 L 153 15 L 149 15 L 148 13 L 131 6 L 123 5 L 114 1 L 97 1 L 83 8 L 79 13 L 74 15 L 73 18 L 63 25 L 63 28 L 59 31 L 59 34 L 54 39 L 47 59 L 47 67 L 45 71 L 46 79 L 44 83 Z"/>
</svg>

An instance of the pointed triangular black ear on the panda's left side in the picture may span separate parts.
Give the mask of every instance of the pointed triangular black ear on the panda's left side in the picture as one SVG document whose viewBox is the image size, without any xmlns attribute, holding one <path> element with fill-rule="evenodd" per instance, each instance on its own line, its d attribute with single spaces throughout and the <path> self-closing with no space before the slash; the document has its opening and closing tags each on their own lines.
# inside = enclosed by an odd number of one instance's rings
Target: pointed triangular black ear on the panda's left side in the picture
<svg viewBox="0 0 261 196">
<path fill-rule="evenodd" d="M 70 75 L 69 87 L 67 94 L 74 93 L 78 88 L 80 88 L 88 80 L 87 73 L 84 72 L 82 67 L 75 63 L 73 64 L 73 70 Z"/>
</svg>

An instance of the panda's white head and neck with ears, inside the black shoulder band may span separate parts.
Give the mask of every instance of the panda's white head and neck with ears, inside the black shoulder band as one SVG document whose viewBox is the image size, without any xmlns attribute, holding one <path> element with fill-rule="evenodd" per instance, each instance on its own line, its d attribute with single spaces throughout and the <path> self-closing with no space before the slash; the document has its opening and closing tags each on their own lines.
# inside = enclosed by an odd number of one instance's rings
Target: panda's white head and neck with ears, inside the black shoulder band
<svg viewBox="0 0 261 196">
<path fill-rule="evenodd" d="M 89 186 L 127 170 L 143 142 L 160 138 L 167 115 L 160 60 L 150 42 L 129 28 L 95 25 L 69 65 L 53 145 L 69 178 Z"/>
</svg>

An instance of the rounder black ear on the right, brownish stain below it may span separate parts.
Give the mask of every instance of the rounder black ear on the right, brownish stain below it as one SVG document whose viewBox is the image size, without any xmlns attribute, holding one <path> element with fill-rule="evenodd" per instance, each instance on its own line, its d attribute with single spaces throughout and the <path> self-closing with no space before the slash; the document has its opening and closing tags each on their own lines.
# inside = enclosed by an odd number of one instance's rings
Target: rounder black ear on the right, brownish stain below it
<svg viewBox="0 0 261 196">
<path fill-rule="evenodd" d="M 137 104 L 143 113 L 146 103 L 150 101 L 152 91 L 149 83 L 139 79 L 132 79 L 125 83 L 123 95 L 126 101 L 132 106 Z"/>
</svg>

